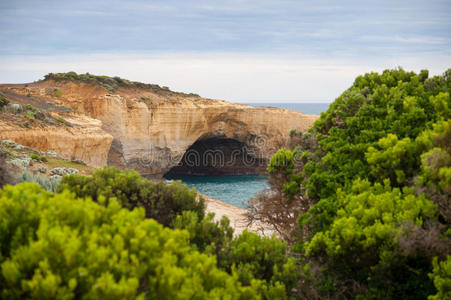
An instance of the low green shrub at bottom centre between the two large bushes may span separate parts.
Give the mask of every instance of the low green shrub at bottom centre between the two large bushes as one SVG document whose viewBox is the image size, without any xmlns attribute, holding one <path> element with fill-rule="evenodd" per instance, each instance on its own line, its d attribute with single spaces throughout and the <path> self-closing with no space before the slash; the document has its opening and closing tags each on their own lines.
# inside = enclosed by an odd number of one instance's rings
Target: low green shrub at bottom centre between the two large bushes
<svg viewBox="0 0 451 300">
<path fill-rule="evenodd" d="M 229 220 L 213 221 L 214 214 L 198 220 L 193 212 L 183 212 L 174 228 L 187 229 L 194 249 L 215 254 L 218 266 L 237 276 L 243 286 L 258 287 L 264 299 L 284 299 L 297 282 L 295 260 L 288 258 L 285 243 L 248 231 L 233 238 Z"/>
</svg>

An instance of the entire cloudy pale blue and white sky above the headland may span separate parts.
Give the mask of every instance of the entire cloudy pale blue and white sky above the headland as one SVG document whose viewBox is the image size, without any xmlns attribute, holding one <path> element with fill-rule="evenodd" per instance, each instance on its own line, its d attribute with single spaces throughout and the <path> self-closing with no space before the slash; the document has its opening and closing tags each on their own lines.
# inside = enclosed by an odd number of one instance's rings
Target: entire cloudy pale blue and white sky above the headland
<svg viewBox="0 0 451 300">
<path fill-rule="evenodd" d="M 331 102 L 451 68 L 451 1 L 0 0 L 0 82 L 120 76 L 235 102 Z"/>
</svg>

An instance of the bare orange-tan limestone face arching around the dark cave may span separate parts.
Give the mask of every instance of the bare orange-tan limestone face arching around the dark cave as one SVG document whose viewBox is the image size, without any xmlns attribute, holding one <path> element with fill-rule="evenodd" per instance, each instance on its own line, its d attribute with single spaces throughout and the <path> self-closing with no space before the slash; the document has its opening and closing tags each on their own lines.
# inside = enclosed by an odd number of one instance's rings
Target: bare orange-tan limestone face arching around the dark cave
<svg viewBox="0 0 451 300">
<path fill-rule="evenodd" d="M 46 84 L 62 91 L 62 105 L 102 121 L 102 128 L 114 137 L 108 164 L 149 177 L 164 175 L 196 141 L 209 138 L 234 140 L 267 162 L 286 144 L 291 129 L 305 131 L 317 119 L 286 109 L 143 89 L 121 88 L 111 95 L 83 83 Z"/>
</svg>

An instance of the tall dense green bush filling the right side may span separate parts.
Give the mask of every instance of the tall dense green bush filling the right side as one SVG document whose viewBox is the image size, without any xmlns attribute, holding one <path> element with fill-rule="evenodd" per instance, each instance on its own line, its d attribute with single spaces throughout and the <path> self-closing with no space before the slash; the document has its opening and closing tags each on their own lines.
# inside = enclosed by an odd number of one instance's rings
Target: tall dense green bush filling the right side
<svg viewBox="0 0 451 300">
<path fill-rule="evenodd" d="M 299 226 L 285 237 L 306 266 L 300 288 L 316 286 L 304 297 L 424 299 L 434 293 L 433 256 L 435 286 L 446 289 L 450 93 L 451 70 L 432 78 L 369 73 L 308 133 L 290 133 L 291 149 L 268 167 L 273 184 L 263 200 L 301 208 Z M 254 201 L 257 216 L 279 212 Z M 273 221 L 290 227 L 287 218 Z"/>
</svg>

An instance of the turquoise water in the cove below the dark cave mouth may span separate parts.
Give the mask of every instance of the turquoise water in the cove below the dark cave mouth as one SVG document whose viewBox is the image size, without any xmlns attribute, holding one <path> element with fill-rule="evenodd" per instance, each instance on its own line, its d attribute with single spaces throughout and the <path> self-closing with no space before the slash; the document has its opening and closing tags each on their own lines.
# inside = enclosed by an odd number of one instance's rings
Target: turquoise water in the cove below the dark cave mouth
<svg viewBox="0 0 451 300">
<path fill-rule="evenodd" d="M 188 176 L 178 175 L 167 179 L 181 180 L 199 193 L 238 207 L 246 207 L 247 201 L 268 187 L 266 177 L 260 175 L 237 176 Z"/>
</svg>

